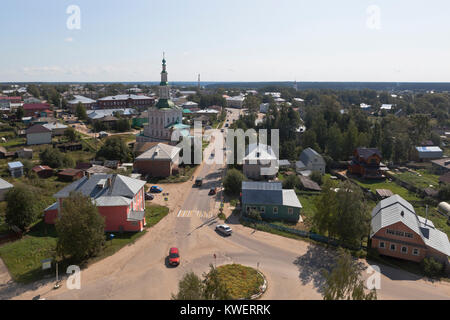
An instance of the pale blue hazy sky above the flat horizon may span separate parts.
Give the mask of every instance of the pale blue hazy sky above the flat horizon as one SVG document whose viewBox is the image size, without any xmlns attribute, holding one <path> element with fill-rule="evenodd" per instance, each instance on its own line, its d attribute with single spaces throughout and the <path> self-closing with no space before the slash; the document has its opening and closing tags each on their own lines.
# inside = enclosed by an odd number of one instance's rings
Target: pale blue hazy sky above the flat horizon
<svg viewBox="0 0 450 320">
<path fill-rule="evenodd" d="M 158 81 L 163 52 L 169 81 L 450 82 L 449 16 L 447 0 L 1 0 L 0 82 Z"/>
</svg>

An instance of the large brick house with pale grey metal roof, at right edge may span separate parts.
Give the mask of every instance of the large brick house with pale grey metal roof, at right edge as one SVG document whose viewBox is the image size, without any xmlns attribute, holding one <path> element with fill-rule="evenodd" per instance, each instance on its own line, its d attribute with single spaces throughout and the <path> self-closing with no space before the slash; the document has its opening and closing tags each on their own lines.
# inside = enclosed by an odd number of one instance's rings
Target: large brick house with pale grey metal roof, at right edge
<svg viewBox="0 0 450 320">
<path fill-rule="evenodd" d="M 449 267 L 447 235 L 399 195 L 381 200 L 373 209 L 370 238 L 372 248 L 382 255 L 415 262 L 431 256 Z"/>
</svg>

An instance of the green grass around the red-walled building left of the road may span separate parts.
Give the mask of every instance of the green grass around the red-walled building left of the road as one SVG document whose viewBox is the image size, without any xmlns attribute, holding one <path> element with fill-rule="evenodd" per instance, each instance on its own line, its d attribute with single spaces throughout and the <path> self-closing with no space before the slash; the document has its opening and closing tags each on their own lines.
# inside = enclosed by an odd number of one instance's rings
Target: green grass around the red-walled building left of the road
<svg viewBox="0 0 450 320">
<path fill-rule="evenodd" d="M 146 208 L 146 229 L 156 225 L 169 213 L 167 207 L 150 205 Z M 121 248 L 133 244 L 144 232 L 114 233 L 114 239 L 107 240 L 104 250 L 99 256 L 93 257 L 85 262 L 84 266 L 104 259 Z M 109 238 L 109 233 L 106 235 Z M 22 239 L 7 243 L 0 247 L 0 257 L 8 267 L 13 279 L 20 283 L 29 283 L 42 279 L 46 275 L 54 275 L 54 267 L 50 270 L 42 271 L 41 261 L 55 256 L 57 235 L 55 227 L 46 225 L 39 221 L 31 228 L 31 231 Z M 63 267 L 60 272 L 63 273 Z"/>
</svg>

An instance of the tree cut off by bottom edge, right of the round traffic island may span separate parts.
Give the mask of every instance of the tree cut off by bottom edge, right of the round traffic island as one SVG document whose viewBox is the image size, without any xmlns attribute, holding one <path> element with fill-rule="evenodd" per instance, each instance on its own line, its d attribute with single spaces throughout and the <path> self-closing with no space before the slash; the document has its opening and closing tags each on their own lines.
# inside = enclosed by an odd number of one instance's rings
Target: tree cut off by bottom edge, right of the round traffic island
<svg viewBox="0 0 450 320">
<path fill-rule="evenodd" d="M 362 268 L 350 253 L 342 248 L 338 249 L 336 265 L 330 272 L 324 270 L 326 279 L 323 292 L 324 300 L 376 300 L 375 289 L 366 293 L 364 281 L 360 279 Z"/>
</svg>

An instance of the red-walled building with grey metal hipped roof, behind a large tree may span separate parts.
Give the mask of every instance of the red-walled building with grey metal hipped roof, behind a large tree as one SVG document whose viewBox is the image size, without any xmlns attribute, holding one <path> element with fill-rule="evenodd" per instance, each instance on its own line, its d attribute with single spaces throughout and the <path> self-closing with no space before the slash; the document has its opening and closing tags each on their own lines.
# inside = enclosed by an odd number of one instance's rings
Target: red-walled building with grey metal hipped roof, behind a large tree
<svg viewBox="0 0 450 320">
<path fill-rule="evenodd" d="M 105 231 L 140 232 L 145 222 L 145 181 L 117 174 L 94 174 L 66 186 L 54 195 L 57 201 L 44 211 L 44 221 L 54 224 L 64 199 L 71 192 L 89 196 L 105 218 Z"/>
</svg>

